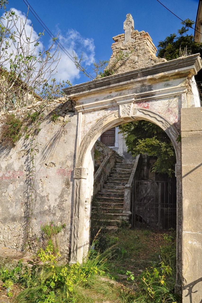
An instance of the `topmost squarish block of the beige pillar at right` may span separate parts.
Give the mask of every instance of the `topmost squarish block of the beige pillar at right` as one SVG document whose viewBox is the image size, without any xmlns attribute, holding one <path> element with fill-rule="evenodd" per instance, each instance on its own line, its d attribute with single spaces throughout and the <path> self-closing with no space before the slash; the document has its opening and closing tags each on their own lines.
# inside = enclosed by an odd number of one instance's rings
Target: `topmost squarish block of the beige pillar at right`
<svg viewBox="0 0 202 303">
<path fill-rule="evenodd" d="M 202 108 L 181 108 L 181 131 L 202 130 Z"/>
</svg>

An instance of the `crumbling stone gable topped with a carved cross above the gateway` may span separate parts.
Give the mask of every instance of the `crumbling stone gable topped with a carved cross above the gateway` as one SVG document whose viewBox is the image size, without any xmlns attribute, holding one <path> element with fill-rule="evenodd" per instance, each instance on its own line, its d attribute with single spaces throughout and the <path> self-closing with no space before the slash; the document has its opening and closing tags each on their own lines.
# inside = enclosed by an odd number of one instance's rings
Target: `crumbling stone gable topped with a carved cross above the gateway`
<svg viewBox="0 0 202 303">
<path fill-rule="evenodd" d="M 166 61 L 157 58 L 157 48 L 147 32 L 134 30 L 131 14 L 126 15 L 123 29 L 125 34 L 113 37 L 112 55 L 106 69 L 117 74 Z"/>
</svg>

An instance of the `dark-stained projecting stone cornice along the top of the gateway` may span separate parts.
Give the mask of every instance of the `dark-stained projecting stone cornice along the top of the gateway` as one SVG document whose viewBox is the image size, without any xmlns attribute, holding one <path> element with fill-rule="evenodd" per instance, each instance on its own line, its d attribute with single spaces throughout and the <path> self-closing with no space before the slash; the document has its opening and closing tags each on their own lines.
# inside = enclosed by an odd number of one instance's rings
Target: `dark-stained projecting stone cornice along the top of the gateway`
<svg viewBox="0 0 202 303">
<path fill-rule="evenodd" d="M 134 69 L 129 72 L 96 79 L 90 82 L 74 85 L 65 88 L 66 95 L 77 101 L 81 97 L 95 93 L 104 92 L 107 89 L 116 90 L 117 87 L 128 86 L 140 82 L 140 86 L 145 83 L 160 83 L 171 78 L 192 77 L 202 68 L 200 54 L 194 54 L 183 58 L 177 58 L 167 62 L 150 65 L 140 69 Z"/>
</svg>

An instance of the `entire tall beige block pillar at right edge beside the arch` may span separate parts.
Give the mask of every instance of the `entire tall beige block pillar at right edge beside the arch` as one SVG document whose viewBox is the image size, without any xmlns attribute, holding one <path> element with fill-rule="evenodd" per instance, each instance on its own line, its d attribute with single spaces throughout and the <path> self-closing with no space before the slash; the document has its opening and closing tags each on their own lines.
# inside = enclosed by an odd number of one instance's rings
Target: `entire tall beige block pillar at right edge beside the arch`
<svg viewBox="0 0 202 303">
<path fill-rule="evenodd" d="M 182 302 L 202 302 L 202 108 L 181 109 Z"/>
</svg>

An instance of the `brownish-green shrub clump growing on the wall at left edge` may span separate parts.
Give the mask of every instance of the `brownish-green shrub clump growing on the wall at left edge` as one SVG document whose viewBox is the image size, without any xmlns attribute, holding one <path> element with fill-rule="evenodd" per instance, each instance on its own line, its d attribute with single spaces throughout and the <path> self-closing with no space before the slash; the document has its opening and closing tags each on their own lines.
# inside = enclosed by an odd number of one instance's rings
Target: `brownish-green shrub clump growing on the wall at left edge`
<svg viewBox="0 0 202 303">
<path fill-rule="evenodd" d="M 21 137 L 21 128 L 22 121 L 19 118 L 16 118 L 14 114 L 6 114 L 0 133 L 0 140 L 3 141 L 3 145 L 14 147 Z"/>
</svg>

